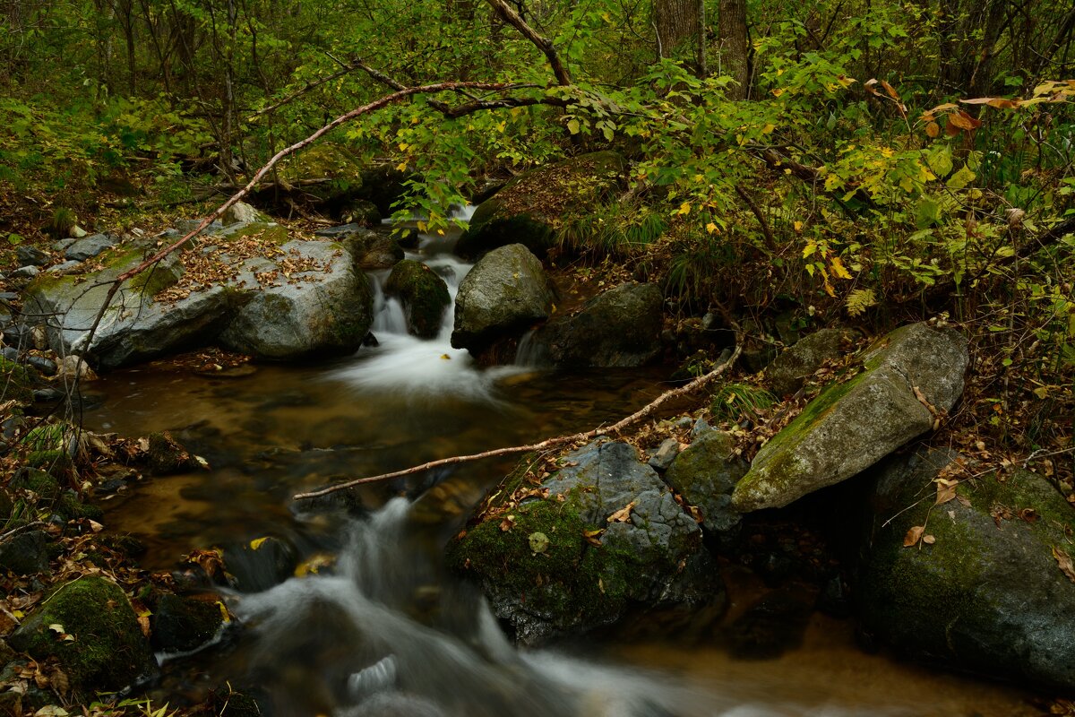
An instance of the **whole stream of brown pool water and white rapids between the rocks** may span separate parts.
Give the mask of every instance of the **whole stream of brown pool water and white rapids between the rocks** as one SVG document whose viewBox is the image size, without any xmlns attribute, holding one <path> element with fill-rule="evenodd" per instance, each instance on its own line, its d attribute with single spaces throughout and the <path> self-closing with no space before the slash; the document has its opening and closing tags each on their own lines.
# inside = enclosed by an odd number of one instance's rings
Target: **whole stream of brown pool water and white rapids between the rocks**
<svg viewBox="0 0 1075 717">
<path fill-rule="evenodd" d="M 469 266 L 449 248 L 427 236 L 414 258 L 454 298 Z M 168 661 L 160 699 L 199 699 L 227 679 L 281 716 L 1034 714 L 1007 689 L 863 655 L 848 625 L 820 616 L 800 648 L 768 661 L 733 659 L 712 633 L 516 649 L 440 559 L 510 463 L 363 487 L 347 511 L 290 496 L 608 422 L 660 393 L 661 374 L 479 370 L 450 347 L 450 314 L 439 339 L 420 341 L 379 289 L 376 310 L 379 345 L 328 365 L 201 375 L 161 363 L 95 384 L 105 402 L 90 428 L 170 429 L 213 467 L 135 484 L 111 502 L 110 529 L 143 537 L 152 570 L 221 546 L 239 580 L 228 599 L 242 628 Z M 287 574 L 333 564 L 288 577 L 249 547 L 264 536 L 293 558 Z M 749 592 L 733 589 L 733 611 Z"/>
</svg>

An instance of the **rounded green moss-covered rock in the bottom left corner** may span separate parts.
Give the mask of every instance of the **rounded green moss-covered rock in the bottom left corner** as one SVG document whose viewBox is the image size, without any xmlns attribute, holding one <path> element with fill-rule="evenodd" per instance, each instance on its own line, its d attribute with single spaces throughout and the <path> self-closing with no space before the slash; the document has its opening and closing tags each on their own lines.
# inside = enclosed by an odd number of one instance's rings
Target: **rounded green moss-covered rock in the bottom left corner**
<svg viewBox="0 0 1075 717">
<path fill-rule="evenodd" d="M 157 666 L 127 596 L 103 577 L 61 586 L 9 642 L 37 660 L 55 657 L 81 697 L 121 690 Z"/>
</svg>

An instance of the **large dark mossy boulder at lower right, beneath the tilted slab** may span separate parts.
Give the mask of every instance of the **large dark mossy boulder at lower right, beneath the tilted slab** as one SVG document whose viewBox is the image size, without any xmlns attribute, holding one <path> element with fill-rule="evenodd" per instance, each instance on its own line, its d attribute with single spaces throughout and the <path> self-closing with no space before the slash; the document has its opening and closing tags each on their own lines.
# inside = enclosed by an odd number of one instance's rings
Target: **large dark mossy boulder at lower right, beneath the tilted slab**
<svg viewBox="0 0 1075 717">
<path fill-rule="evenodd" d="M 1075 690 L 1075 577 L 1061 567 L 1075 558 L 1075 506 L 1035 473 L 972 481 L 955 459 L 920 449 L 871 472 L 863 627 L 919 659 Z M 959 484 L 938 491 L 938 478 Z"/>
</svg>

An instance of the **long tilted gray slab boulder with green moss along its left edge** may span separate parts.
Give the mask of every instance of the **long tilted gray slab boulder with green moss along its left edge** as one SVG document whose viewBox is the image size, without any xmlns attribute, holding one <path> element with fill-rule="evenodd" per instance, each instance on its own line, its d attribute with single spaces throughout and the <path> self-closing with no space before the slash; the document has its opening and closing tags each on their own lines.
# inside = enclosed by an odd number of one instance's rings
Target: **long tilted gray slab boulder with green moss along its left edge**
<svg viewBox="0 0 1075 717">
<path fill-rule="evenodd" d="M 962 393 L 969 360 L 966 339 L 955 329 L 912 324 L 891 332 L 865 352 L 859 375 L 828 386 L 762 447 L 732 506 L 787 505 L 931 430 L 934 412 Z"/>
</svg>

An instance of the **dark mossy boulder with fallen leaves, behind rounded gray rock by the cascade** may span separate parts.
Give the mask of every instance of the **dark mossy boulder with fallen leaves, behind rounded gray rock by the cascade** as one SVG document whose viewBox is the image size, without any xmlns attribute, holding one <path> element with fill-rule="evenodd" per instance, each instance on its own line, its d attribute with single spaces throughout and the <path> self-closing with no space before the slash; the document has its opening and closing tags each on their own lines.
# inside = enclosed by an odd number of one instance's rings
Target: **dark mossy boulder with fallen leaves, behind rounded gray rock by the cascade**
<svg viewBox="0 0 1075 717">
<path fill-rule="evenodd" d="M 477 258 L 505 244 L 522 244 L 544 257 L 565 224 L 593 211 L 622 185 L 627 166 L 621 155 L 605 150 L 520 174 L 477 206 L 456 252 Z"/>
</svg>

